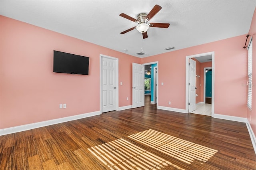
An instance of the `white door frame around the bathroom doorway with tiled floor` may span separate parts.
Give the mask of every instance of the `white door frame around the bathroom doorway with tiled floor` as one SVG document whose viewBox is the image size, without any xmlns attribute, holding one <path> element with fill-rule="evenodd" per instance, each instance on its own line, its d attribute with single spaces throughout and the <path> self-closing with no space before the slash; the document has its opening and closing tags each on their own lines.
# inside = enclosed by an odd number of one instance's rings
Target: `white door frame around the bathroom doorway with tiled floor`
<svg viewBox="0 0 256 170">
<path fill-rule="evenodd" d="M 189 91 L 188 91 L 188 79 L 189 79 L 189 59 L 195 58 L 195 57 L 203 57 L 206 55 L 212 55 L 212 117 L 214 117 L 214 51 L 208 52 L 208 53 L 200 53 L 195 55 L 188 55 L 186 56 L 186 100 L 185 100 L 185 106 L 186 106 L 186 113 L 188 113 L 188 97 L 189 97 Z"/>
</svg>

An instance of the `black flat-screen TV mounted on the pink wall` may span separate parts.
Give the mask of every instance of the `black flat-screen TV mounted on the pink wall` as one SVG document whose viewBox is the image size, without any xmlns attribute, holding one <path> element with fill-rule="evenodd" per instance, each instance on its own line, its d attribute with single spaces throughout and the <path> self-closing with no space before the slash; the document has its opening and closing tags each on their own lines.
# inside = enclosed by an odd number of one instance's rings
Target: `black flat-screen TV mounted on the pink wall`
<svg viewBox="0 0 256 170">
<path fill-rule="evenodd" d="M 89 74 L 89 57 L 53 51 L 53 72 Z"/>
</svg>

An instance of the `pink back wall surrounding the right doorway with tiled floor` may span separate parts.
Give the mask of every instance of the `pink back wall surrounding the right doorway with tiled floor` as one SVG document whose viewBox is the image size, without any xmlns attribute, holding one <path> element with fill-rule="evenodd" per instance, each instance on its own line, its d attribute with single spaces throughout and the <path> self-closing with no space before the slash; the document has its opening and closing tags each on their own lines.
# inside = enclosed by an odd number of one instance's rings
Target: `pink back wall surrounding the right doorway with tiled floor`
<svg viewBox="0 0 256 170">
<path fill-rule="evenodd" d="M 215 51 L 214 112 L 246 117 L 247 51 L 245 35 L 142 58 L 142 63 L 158 61 L 158 105 L 185 109 L 186 56 Z M 172 105 L 168 105 L 168 101 Z"/>
</svg>

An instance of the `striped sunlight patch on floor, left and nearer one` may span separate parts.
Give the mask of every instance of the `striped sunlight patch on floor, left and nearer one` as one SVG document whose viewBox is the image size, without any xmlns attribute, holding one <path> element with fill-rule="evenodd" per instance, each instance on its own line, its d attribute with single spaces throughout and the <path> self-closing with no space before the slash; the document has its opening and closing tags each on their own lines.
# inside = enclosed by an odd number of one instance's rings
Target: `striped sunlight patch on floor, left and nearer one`
<svg viewBox="0 0 256 170">
<path fill-rule="evenodd" d="M 169 165 L 178 170 L 183 170 L 179 166 L 122 138 L 88 148 L 88 150 L 112 170 L 160 170 Z"/>
</svg>

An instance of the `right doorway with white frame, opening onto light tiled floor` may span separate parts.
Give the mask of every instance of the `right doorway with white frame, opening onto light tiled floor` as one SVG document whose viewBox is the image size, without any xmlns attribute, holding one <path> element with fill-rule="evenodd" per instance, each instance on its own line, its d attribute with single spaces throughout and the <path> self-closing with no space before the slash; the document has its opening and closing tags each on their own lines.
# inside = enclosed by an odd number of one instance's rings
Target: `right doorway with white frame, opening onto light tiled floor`
<svg viewBox="0 0 256 170">
<path fill-rule="evenodd" d="M 196 63 L 196 73 L 189 67 L 189 60 Z M 200 115 L 213 116 L 214 111 L 214 51 L 186 56 L 186 111 Z M 190 69 L 192 72 L 190 72 Z M 208 72 L 208 73 L 207 73 Z M 191 74 L 190 74 L 191 73 Z M 206 80 L 207 76 L 207 80 Z M 195 79 L 193 85 L 190 79 Z M 193 85 L 190 86 L 190 85 Z M 193 91 L 194 89 L 194 95 Z M 195 97 L 194 97 L 195 96 Z M 190 107 L 195 101 L 195 107 Z"/>
</svg>

